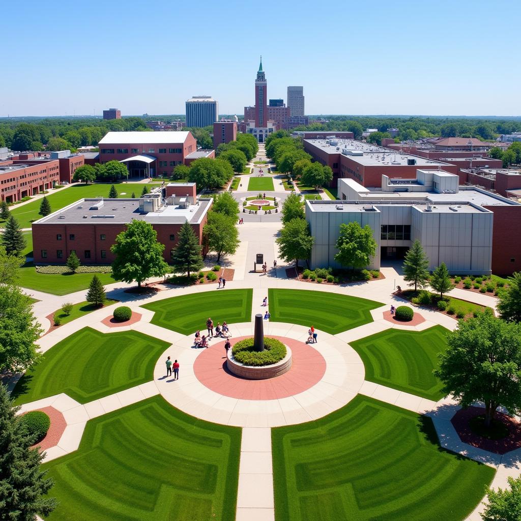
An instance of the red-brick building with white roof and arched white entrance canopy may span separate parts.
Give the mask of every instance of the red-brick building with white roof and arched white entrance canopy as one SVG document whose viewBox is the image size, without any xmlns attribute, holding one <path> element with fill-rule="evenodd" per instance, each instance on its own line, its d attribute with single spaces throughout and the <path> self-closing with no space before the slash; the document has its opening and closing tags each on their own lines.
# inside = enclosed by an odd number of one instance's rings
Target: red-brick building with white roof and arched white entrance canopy
<svg viewBox="0 0 521 521">
<path fill-rule="evenodd" d="M 169 176 L 197 150 L 190 132 L 108 132 L 98 143 L 100 163 L 125 162 L 131 177 Z"/>
</svg>

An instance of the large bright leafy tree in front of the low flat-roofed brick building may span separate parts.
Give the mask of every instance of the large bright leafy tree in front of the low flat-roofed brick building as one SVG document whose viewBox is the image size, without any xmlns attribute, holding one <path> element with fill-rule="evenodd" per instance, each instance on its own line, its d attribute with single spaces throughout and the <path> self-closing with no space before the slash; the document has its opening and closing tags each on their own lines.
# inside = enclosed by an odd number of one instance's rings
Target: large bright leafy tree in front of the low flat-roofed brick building
<svg viewBox="0 0 521 521">
<path fill-rule="evenodd" d="M 116 255 L 112 263 L 114 277 L 128 283 L 135 280 L 140 288 L 147 278 L 165 275 L 168 264 L 163 258 L 164 249 L 150 222 L 132 219 L 110 247 Z"/>
</svg>

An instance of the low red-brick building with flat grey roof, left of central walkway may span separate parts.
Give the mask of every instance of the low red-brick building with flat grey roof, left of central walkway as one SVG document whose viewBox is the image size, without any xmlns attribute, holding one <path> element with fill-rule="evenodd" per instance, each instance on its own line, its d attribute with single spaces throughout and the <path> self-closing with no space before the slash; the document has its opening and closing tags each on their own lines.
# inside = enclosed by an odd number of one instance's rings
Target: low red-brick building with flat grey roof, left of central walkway
<svg viewBox="0 0 521 521">
<path fill-rule="evenodd" d="M 83 264 L 110 264 L 110 246 L 137 219 L 152 224 L 170 262 L 185 221 L 204 246 L 203 227 L 212 203 L 212 198 L 197 198 L 195 183 L 172 183 L 139 199 L 81 199 L 33 222 L 34 261 L 64 264 L 75 251 Z"/>
</svg>

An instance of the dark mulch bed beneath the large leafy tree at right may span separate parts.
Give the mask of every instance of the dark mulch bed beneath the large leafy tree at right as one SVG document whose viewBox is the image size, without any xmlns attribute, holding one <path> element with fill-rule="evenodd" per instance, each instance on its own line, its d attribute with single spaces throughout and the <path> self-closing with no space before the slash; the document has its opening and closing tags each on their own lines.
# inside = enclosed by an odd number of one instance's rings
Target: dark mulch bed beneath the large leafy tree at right
<svg viewBox="0 0 521 521">
<path fill-rule="evenodd" d="M 489 440 L 477 435 L 468 425 L 470 419 L 481 414 L 485 414 L 484 408 L 468 407 L 467 409 L 460 409 L 453 416 L 451 423 L 456 429 L 458 436 L 460 436 L 461 441 L 478 449 L 496 454 L 505 454 L 521 447 L 521 423 L 518 420 L 506 414 L 496 412 L 494 419 L 501 421 L 507 427 L 509 434 L 500 440 Z"/>
</svg>

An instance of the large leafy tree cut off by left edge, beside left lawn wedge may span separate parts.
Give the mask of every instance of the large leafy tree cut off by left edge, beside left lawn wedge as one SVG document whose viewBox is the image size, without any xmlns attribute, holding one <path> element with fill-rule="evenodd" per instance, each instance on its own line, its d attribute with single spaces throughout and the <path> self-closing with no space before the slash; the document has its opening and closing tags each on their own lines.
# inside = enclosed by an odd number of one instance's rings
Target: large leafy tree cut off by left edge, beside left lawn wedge
<svg viewBox="0 0 521 521">
<path fill-rule="evenodd" d="M 23 371 L 38 361 L 42 331 L 31 299 L 13 284 L 0 286 L 0 371 Z"/>
</svg>

